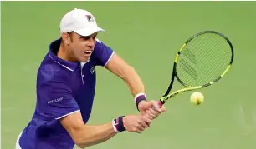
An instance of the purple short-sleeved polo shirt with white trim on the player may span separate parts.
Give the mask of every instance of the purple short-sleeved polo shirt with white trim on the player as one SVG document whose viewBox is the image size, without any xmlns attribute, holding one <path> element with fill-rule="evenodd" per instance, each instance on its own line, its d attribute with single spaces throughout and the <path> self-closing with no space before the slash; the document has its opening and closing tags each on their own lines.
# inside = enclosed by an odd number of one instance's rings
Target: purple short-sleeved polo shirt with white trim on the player
<svg viewBox="0 0 256 149">
<path fill-rule="evenodd" d="M 90 118 L 95 97 L 96 66 L 104 67 L 114 51 L 97 40 L 89 62 L 67 62 L 56 56 L 60 40 L 38 68 L 37 102 L 31 121 L 19 139 L 23 149 L 72 149 L 74 141 L 59 118 L 80 111 L 84 123 Z"/>
</svg>

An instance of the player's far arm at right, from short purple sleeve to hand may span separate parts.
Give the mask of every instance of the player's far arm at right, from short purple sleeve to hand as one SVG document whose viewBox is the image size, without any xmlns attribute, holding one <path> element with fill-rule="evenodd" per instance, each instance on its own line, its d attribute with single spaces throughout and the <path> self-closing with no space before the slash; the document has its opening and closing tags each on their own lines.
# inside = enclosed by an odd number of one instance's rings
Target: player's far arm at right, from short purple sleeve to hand
<svg viewBox="0 0 256 149">
<path fill-rule="evenodd" d="M 136 107 L 141 114 L 148 113 L 151 118 L 155 118 L 160 112 L 165 111 L 164 107 L 158 107 L 158 102 L 146 101 L 145 87 L 136 70 L 99 39 L 96 41 L 92 58 L 96 66 L 105 67 L 125 81 L 135 99 Z M 155 110 L 152 110 L 151 107 L 154 107 Z"/>
</svg>

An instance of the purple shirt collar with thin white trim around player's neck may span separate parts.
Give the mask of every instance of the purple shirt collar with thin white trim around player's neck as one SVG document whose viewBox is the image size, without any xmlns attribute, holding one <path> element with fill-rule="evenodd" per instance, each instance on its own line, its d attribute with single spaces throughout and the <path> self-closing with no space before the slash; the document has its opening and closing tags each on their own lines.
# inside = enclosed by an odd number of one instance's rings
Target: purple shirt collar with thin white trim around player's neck
<svg viewBox="0 0 256 149">
<path fill-rule="evenodd" d="M 49 45 L 49 57 L 54 60 L 54 62 L 57 62 L 59 65 L 65 67 L 69 71 L 74 71 L 76 67 L 79 66 L 79 62 L 69 62 L 65 61 L 64 59 L 61 59 L 57 57 L 53 51 L 58 51 L 60 46 L 60 39 L 55 40 L 54 42 L 51 42 Z"/>
</svg>

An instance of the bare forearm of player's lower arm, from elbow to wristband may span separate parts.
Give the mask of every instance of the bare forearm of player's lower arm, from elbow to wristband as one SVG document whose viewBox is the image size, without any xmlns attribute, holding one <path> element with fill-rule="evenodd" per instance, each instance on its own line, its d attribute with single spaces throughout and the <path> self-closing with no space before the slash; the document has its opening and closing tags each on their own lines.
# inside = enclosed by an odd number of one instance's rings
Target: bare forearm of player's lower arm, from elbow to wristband
<svg viewBox="0 0 256 149">
<path fill-rule="evenodd" d="M 81 148 L 105 142 L 116 134 L 111 122 L 96 126 L 86 125 L 83 130 L 76 133 L 79 136 L 76 142 Z"/>
</svg>

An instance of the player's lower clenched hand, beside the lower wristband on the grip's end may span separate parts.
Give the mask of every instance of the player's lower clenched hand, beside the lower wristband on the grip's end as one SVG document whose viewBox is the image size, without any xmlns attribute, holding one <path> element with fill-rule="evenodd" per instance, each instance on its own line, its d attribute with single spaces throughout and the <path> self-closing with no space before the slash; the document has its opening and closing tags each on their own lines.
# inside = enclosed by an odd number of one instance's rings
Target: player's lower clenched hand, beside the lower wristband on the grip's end
<svg viewBox="0 0 256 149">
<path fill-rule="evenodd" d="M 151 124 L 151 119 L 141 115 L 123 117 L 124 127 L 128 132 L 141 133 Z"/>
</svg>

